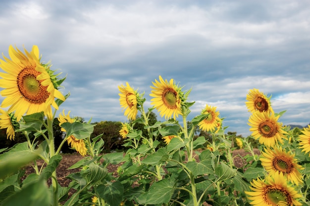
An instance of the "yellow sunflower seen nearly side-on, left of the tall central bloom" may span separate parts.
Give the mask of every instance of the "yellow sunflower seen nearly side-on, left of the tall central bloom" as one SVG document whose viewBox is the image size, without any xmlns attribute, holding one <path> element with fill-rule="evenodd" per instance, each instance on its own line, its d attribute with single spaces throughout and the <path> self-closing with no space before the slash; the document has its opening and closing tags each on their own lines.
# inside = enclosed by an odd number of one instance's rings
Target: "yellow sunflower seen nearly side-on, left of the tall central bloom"
<svg viewBox="0 0 310 206">
<path fill-rule="evenodd" d="M 137 91 L 130 87 L 129 83 L 126 82 L 126 86 L 118 86 L 119 102 L 123 110 L 125 110 L 124 115 L 130 120 L 135 120 L 138 113 L 138 101 L 137 101 Z"/>
</svg>

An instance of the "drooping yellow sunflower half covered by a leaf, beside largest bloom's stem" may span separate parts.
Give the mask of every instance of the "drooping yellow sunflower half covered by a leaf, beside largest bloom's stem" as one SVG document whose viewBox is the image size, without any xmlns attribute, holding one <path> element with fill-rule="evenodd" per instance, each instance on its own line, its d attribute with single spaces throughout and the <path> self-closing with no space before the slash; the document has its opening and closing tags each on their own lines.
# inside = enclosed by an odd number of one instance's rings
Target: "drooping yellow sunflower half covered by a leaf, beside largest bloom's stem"
<svg viewBox="0 0 310 206">
<path fill-rule="evenodd" d="M 80 122 L 77 118 L 70 118 L 70 111 L 67 115 L 65 115 L 64 110 L 62 111 L 62 114 L 60 113 L 58 116 L 59 126 L 61 127 L 61 124 L 63 123 L 75 123 Z M 61 131 L 66 132 L 64 128 L 61 127 Z M 74 137 L 74 135 L 70 135 L 67 137 L 68 145 L 70 145 L 72 148 L 74 148 L 77 152 L 79 152 L 83 157 L 87 154 L 87 148 L 85 146 L 85 142 L 83 139 L 77 139 Z"/>
</svg>

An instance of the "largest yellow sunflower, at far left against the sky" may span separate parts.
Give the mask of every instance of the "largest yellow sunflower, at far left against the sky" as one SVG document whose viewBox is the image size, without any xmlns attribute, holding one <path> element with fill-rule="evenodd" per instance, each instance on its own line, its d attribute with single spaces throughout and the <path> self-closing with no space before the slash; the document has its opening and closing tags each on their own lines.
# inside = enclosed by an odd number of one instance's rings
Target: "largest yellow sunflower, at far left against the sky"
<svg viewBox="0 0 310 206">
<path fill-rule="evenodd" d="M 39 60 L 39 48 L 34 45 L 29 53 L 23 54 L 18 48 L 9 46 L 11 58 L 0 59 L 0 68 L 6 73 L 0 73 L 0 87 L 4 89 L 1 95 L 6 97 L 1 107 L 10 107 L 8 113 L 15 111 L 17 121 L 27 115 L 44 111 L 52 119 L 51 105 L 58 109 L 54 98 L 65 100 L 64 96 L 54 88 L 51 76 Z"/>
</svg>

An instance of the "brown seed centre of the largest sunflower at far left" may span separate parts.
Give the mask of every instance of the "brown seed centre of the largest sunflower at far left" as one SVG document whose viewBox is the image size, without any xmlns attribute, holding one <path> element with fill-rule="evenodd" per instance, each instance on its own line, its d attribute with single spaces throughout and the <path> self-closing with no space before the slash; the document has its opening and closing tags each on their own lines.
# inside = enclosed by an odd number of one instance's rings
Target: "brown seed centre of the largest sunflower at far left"
<svg viewBox="0 0 310 206">
<path fill-rule="evenodd" d="M 17 87 L 20 94 L 32 104 L 42 104 L 50 97 L 48 86 L 43 86 L 41 81 L 37 80 L 38 72 L 36 66 L 26 66 L 17 75 Z"/>
</svg>

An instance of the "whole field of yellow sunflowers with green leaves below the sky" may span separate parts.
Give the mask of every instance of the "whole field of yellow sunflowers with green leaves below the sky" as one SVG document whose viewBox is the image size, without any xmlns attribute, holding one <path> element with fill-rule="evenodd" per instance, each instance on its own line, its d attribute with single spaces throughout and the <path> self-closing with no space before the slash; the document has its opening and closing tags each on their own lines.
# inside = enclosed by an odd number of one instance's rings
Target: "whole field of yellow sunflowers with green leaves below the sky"
<svg viewBox="0 0 310 206">
<path fill-rule="evenodd" d="M 151 85 L 153 107 L 148 110 L 144 92 L 128 82 L 118 85 L 120 109 L 129 120 L 119 128 L 126 152 L 104 154 L 103 134 L 92 136 L 95 124 L 64 110 L 56 117 L 65 134 L 56 149 L 53 120 L 70 96 L 59 91 L 65 78 L 50 62 L 41 62 L 36 45 L 30 52 L 9 46 L 8 54 L 0 59 L 0 128 L 10 140 L 22 132 L 27 141 L 0 149 L 1 206 L 310 205 L 310 125 L 301 134 L 283 126 L 279 119 L 285 111 L 273 111 L 271 97 L 258 89 L 249 90 L 245 107 L 260 155 L 249 138 L 237 138 L 238 147 L 250 154 L 242 157 L 241 167 L 234 165 L 237 148 L 225 135 L 225 120 L 216 107 L 206 105 L 188 120 L 195 104 L 188 101 L 191 90 L 161 76 Z M 153 111 L 165 121 L 149 124 Z M 197 127 L 211 139 L 194 138 Z M 60 186 L 56 176 L 64 143 L 83 157 L 68 168 L 79 168 L 67 176 L 68 187 Z M 39 160 L 45 164 L 38 165 Z M 120 163 L 117 175 L 108 172 L 108 165 Z M 22 180 L 29 164 L 35 172 Z M 74 191 L 70 197 L 69 191 Z"/>
</svg>

